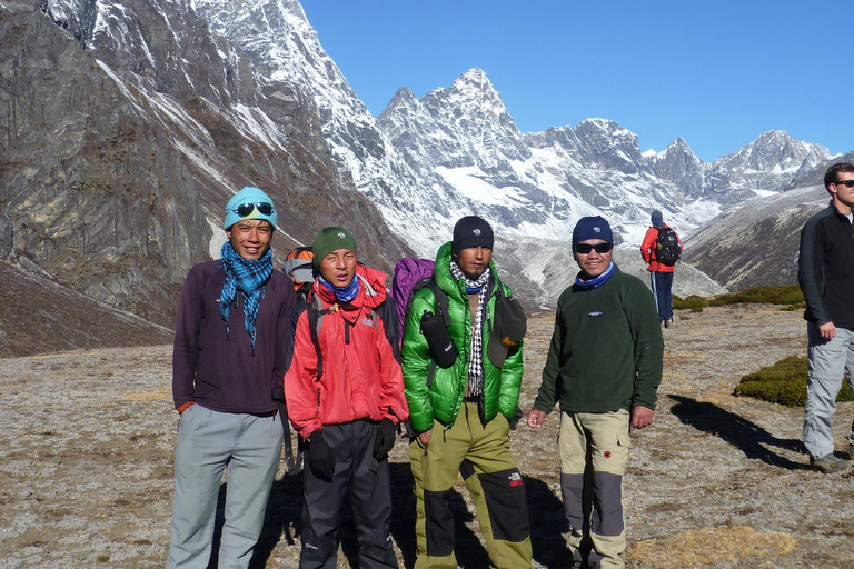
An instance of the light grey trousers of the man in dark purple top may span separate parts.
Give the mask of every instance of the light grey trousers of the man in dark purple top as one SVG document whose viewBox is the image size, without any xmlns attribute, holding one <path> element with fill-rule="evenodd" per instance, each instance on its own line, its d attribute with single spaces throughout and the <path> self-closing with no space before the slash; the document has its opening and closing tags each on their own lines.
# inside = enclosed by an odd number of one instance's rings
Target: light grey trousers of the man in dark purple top
<svg viewBox="0 0 854 569">
<path fill-rule="evenodd" d="M 279 468 L 281 433 L 278 413 L 222 413 L 198 403 L 181 413 L 175 449 L 172 537 L 167 569 L 208 566 L 224 471 L 228 486 L 218 567 L 249 566 Z"/>
</svg>

